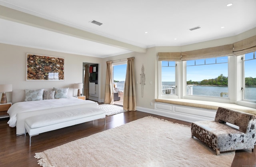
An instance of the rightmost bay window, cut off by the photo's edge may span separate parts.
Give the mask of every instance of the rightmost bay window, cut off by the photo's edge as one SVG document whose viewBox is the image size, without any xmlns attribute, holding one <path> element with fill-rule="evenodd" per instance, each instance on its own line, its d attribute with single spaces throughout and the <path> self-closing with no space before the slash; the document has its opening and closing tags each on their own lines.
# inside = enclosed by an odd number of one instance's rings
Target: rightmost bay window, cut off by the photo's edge
<svg viewBox="0 0 256 167">
<path fill-rule="evenodd" d="M 244 55 L 244 100 L 256 101 L 255 52 Z"/>
</svg>

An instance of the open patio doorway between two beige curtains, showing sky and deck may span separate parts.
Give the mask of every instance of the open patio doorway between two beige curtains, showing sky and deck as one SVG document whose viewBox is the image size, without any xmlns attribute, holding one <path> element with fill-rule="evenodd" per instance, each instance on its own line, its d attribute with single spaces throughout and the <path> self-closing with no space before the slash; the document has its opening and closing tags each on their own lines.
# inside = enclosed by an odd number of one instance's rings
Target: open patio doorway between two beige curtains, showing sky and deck
<svg viewBox="0 0 256 167">
<path fill-rule="evenodd" d="M 124 82 L 126 78 L 127 63 L 113 65 L 113 83 L 114 83 L 114 104 L 122 105 L 124 103 Z"/>
</svg>

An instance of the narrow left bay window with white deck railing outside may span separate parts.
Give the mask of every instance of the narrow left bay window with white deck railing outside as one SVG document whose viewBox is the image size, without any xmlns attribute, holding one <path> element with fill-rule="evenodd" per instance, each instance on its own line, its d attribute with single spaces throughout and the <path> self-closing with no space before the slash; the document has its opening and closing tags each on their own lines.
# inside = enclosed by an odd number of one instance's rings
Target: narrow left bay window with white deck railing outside
<svg viewBox="0 0 256 167">
<path fill-rule="evenodd" d="M 175 94 L 175 62 L 162 61 L 162 95 L 173 95 Z"/>
</svg>

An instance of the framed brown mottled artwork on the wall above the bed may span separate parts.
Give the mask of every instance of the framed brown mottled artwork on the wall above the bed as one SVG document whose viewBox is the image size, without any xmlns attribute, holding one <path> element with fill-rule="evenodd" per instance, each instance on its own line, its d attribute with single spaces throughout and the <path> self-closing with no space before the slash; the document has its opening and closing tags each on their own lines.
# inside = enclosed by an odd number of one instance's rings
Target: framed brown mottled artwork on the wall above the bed
<svg viewBox="0 0 256 167">
<path fill-rule="evenodd" d="M 64 81 L 64 58 L 26 54 L 26 81 Z"/>
</svg>

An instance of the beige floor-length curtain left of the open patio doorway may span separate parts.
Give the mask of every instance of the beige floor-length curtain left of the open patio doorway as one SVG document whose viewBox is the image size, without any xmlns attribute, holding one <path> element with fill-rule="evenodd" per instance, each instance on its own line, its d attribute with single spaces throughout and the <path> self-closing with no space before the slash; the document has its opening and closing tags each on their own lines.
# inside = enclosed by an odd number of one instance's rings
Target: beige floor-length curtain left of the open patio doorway
<svg viewBox="0 0 256 167">
<path fill-rule="evenodd" d="M 106 86 L 105 86 L 105 104 L 114 104 L 114 92 L 113 92 L 113 68 L 112 62 L 107 62 L 106 71 Z"/>
</svg>

